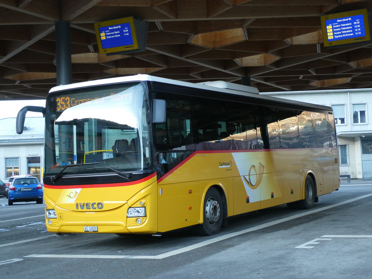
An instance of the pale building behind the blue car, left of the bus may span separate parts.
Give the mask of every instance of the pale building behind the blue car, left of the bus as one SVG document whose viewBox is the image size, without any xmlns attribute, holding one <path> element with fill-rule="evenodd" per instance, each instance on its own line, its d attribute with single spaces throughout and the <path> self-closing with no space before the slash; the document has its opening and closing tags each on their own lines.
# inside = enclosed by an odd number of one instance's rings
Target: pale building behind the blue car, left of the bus
<svg viewBox="0 0 372 279">
<path fill-rule="evenodd" d="M 32 174 L 42 182 L 44 171 L 44 118 L 26 117 L 25 131 L 16 133 L 16 118 L 0 119 L 0 179 Z"/>
</svg>

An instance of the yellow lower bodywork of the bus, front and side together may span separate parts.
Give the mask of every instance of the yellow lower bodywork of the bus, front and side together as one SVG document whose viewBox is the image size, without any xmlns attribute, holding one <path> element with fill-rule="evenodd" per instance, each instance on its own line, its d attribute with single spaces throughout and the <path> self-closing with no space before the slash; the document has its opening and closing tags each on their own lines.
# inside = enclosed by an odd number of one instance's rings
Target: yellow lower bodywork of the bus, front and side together
<svg viewBox="0 0 372 279">
<path fill-rule="evenodd" d="M 207 190 L 216 187 L 227 216 L 305 198 L 307 175 L 317 196 L 339 187 L 337 148 L 196 151 L 157 180 L 106 185 L 45 185 L 45 204 L 57 211 L 46 219 L 50 232 L 156 233 L 203 223 Z M 102 209 L 92 209 L 101 202 Z M 89 206 L 87 208 L 87 203 Z M 141 204 L 142 203 L 142 204 Z M 145 206 L 146 217 L 127 218 L 129 207 Z M 51 224 L 48 224 L 48 221 Z"/>
</svg>

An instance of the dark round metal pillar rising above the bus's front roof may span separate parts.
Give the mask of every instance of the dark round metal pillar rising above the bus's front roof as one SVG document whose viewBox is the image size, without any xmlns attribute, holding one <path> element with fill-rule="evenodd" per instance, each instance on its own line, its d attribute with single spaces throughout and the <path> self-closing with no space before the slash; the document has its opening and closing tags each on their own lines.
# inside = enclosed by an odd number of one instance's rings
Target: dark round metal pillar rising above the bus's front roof
<svg viewBox="0 0 372 279">
<path fill-rule="evenodd" d="M 55 54 L 57 63 L 57 85 L 72 83 L 70 22 L 55 23 Z"/>
</svg>

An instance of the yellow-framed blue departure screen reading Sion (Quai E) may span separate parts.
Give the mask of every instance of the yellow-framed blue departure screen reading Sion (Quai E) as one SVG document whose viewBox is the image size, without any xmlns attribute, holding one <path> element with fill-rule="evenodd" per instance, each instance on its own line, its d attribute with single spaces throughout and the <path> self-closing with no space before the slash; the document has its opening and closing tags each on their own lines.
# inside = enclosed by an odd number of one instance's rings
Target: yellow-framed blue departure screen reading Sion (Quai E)
<svg viewBox="0 0 372 279">
<path fill-rule="evenodd" d="M 367 10 L 356 10 L 321 17 L 325 47 L 369 41 Z"/>
</svg>

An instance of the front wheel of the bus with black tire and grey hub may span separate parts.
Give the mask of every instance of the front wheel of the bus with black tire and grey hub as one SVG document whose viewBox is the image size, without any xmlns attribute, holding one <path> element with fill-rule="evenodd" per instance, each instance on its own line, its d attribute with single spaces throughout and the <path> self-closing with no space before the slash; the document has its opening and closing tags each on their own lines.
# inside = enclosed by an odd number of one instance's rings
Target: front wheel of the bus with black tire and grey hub
<svg viewBox="0 0 372 279">
<path fill-rule="evenodd" d="M 216 188 L 211 187 L 206 192 L 203 209 L 203 224 L 198 225 L 198 233 L 217 234 L 222 225 L 224 208 L 221 195 Z"/>
</svg>

